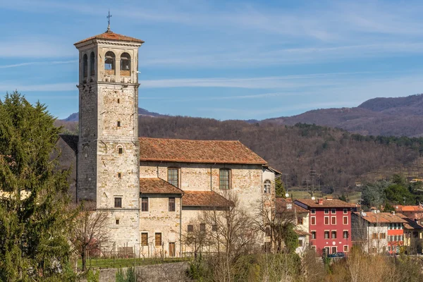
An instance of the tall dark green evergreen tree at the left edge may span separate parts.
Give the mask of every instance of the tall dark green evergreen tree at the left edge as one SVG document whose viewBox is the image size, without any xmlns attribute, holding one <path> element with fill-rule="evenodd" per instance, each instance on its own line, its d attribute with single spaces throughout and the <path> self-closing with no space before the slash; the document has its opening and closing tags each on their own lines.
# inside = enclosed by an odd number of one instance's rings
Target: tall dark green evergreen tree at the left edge
<svg viewBox="0 0 423 282">
<path fill-rule="evenodd" d="M 60 128 L 18 92 L 0 101 L 0 281 L 69 281 L 68 171 Z"/>
</svg>

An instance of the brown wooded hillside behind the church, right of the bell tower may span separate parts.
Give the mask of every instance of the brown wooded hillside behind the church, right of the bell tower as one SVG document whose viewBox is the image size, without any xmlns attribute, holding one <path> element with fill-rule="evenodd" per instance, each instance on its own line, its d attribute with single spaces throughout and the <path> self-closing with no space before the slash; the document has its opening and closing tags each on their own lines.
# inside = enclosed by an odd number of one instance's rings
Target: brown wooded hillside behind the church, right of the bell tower
<svg viewBox="0 0 423 282">
<path fill-rule="evenodd" d="M 371 171 L 398 172 L 423 154 L 423 139 L 372 137 L 317 125 L 294 126 L 208 118 L 140 118 L 139 134 L 197 140 L 240 140 L 288 173 L 290 186 L 304 185 L 310 171 L 320 173 L 315 183 L 326 188 L 345 188 L 366 180 Z M 374 176 L 372 176 L 374 177 Z M 377 177 L 377 176 L 376 176 Z M 285 177 L 284 179 L 285 180 Z M 374 180 L 374 179 L 369 179 Z"/>
</svg>

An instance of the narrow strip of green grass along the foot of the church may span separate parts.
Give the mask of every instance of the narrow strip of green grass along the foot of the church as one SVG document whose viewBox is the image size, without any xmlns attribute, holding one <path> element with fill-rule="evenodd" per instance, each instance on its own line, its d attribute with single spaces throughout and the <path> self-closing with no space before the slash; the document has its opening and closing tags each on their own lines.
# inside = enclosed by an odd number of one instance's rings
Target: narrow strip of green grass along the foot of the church
<svg viewBox="0 0 423 282">
<path fill-rule="evenodd" d="M 87 259 L 87 269 L 114 269 L 151 264 L 168 264 L 171 262 L 189 262 L 190 257 L 145 258 L 145 259 Z M 78 259 L 78 269 L 82 269 L 82 259 Z"/>
</svg>

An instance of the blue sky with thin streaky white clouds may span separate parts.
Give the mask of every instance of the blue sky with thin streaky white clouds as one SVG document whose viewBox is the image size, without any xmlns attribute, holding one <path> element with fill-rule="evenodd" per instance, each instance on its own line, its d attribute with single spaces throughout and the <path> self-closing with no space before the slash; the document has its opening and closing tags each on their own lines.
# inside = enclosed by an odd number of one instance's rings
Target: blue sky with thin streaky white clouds
<svg viewBox="0 0 423 282">
<path fill-rule="evenodd" d="M 422 1 L 0 0 L 0 92 L 78 111 L 75 42 L 145 40 L 140 106 L 217 119 L 291 116 L 423 92 Z"/>
</svg>

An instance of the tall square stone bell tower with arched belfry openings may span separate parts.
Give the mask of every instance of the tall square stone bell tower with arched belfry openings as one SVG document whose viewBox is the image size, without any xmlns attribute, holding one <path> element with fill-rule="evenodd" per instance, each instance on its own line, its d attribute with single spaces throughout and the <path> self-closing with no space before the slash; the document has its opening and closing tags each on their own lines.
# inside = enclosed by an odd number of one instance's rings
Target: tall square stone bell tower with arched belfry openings
<svg viewBox="0 0 423 282">
<path fill-rule="evenodd" d="M 140 243 L 138 48 L 140 39 L 111 32 L 75 43 L 79 50 L 79 201 L 110 217 L 116 247 Z"/>
</svg>

